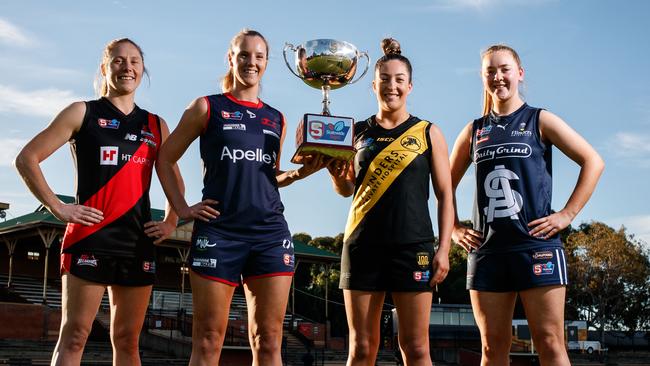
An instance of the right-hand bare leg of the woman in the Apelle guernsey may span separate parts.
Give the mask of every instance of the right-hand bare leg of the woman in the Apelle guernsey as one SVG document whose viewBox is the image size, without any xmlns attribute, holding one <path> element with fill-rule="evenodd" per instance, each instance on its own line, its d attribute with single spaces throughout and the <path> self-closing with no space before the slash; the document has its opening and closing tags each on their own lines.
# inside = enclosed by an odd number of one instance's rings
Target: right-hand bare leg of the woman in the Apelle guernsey
<svg viewBox="0 0 650 366">
<path fill-rule="evenodd" d="M 248 338 L 253 365 L 282 365 L 282 323 L 291 276 L 262 277 L 244 283 L 248 307 Z"/>
</svg>

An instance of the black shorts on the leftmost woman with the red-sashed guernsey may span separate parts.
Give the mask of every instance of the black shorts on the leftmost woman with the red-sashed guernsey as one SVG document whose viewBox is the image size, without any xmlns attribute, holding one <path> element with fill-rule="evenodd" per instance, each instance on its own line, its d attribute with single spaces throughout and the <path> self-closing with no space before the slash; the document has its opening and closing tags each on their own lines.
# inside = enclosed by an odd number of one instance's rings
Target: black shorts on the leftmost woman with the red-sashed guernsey
<svg viewBox="0 0 650 366">
<path fill-rule="evenodd" d="M 104 285 L 149 286 L 156 280 L 156 262 L 153 257 L 62 253 L 61 274 L 66 272 Z"/>
</svg>

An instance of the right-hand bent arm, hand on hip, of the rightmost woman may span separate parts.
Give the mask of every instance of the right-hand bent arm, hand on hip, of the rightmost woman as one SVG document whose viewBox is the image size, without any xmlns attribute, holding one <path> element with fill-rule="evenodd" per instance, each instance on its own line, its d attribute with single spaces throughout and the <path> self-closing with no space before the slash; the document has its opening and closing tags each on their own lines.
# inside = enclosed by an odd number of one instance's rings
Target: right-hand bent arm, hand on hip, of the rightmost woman
<svg viewBox="0 0 650 366">
<path fill-rule="evenodd" d="M 549 238 L 569 226 L 585 206 L 596 189 L 605 163 L 582 136 L 553 113 L 544 110 L 540 112 L 539 129 L 543 141 L 557 146 L 564 155 L 580 166 L 578 181 L 564 208 L 528 223 L 531 228 L 530 235 Z"/>
</svg>

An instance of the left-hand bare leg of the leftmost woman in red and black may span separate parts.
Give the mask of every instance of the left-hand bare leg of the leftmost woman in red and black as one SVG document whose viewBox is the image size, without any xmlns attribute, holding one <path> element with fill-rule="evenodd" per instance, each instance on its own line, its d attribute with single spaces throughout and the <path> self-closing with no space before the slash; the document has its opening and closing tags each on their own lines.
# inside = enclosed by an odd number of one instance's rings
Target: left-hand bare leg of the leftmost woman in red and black
<svg viewBox="0 0 650 366">
<path fill-rule="evenodd" d="M 61 330 L 52 365 L 79 365 L 106 286 L 63 274 Z"/>
</svg>

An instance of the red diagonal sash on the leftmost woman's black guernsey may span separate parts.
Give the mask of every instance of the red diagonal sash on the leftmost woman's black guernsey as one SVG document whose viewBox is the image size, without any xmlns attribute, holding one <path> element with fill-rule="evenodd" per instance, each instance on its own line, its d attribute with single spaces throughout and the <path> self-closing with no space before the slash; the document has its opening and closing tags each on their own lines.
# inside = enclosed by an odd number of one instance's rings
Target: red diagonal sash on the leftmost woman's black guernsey
<svg viewBox="0 0 650 366">
<path fill-rule="evenodd" d="M 156 147 L 151 147 L 143 142 L 138 150 L 133 154 L 131 160 L 82 204 L 96 208 L 104 213 L 104 220 L 99 224 L 86 226 L 83 224 L 68 223 L 63 235 L 61 250 L 69 248 L 71 245 L 97 232 L 106 225 L 122 217 L 142 198 L 148 194 L 151 183 L 151 172 L 153 163 L 160 146 L 160 130 L 158 128 L 157 117 L 149 114 L 148 118 L 149 131 L 154 132 Z M 147 159 L 151 165 L 138 164 L 135 161 Z"/>
</svg>

